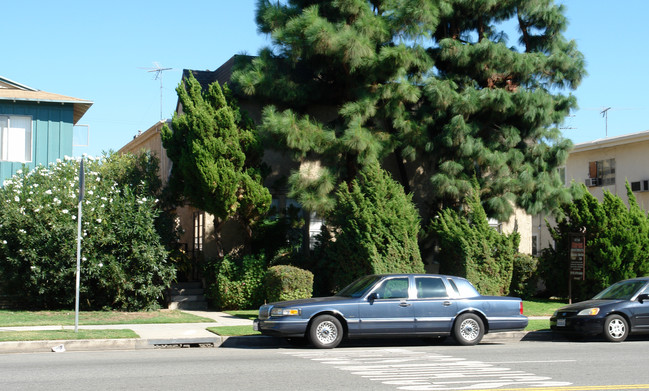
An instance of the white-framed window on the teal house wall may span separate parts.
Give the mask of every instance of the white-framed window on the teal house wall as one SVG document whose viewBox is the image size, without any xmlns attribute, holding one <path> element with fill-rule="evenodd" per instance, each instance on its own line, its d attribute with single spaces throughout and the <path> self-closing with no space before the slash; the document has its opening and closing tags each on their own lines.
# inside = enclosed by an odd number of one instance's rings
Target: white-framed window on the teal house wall
<svg viewBox="0 0 649 391">
<path fill-rule="evenodd" d="M 0 115 L 0 160 L 32 161 L 32 117 Z"/>
</svg>

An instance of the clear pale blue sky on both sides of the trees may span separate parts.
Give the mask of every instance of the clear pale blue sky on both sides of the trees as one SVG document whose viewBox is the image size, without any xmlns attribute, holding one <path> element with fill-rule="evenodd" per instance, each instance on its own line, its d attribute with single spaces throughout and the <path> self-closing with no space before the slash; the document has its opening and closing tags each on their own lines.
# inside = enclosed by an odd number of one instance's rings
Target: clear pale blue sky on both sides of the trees
<svg viewBox="0 0 649 391">
<path fill-rule="evenodd" d="M 649 2 L 560 3 L 570 21 L 565 35 L 577 41 L 588 71 L 564 135 L 580 143 L 649 130 Z M 162 114 L 170 118 L 183 69 L 214 70 L 268 45 L 254 8 L 254 0 L 7 1 L 0 75 L 93 101 L 79 122 L 89 126 L 89 146 L 74 154 L 98 156 L 160 119 L 160 81 L 146 68 L 173 68 L 162 74 Z"/>
</svg>

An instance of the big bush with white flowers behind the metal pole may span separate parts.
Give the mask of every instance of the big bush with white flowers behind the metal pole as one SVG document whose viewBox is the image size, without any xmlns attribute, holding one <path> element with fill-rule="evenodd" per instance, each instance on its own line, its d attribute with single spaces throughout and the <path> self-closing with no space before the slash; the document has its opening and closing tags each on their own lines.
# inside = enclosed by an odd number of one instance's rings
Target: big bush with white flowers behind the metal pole
<svg viewBox="0 0 649 391">
<path fill-rule="evenodd" d="M 147 157 L 148 156 L 148 157 Z M 85 160 L 81 216 L 84 309 L 152 309 L 175 275 L 156 218 L 143 154 Z M 117 169 L 119 168 L 119 169 Z M 25 307 L 70 308 L 75 300 L 79 161 L 18 171 L 0 189 L 0 277 Z"/>
</svg>

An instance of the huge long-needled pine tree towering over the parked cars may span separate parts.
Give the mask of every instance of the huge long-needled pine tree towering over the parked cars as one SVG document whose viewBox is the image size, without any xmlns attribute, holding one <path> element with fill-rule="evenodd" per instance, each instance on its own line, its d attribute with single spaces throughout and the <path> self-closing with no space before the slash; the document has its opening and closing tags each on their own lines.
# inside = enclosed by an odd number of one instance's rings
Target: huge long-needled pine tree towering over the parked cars
<svg viewBox="0 0 649 391">
<path fill-rule="evenodd" d="M 552 0 L 258 0 L 257 22 L 273 47 L 233 81 L 274 104 L 261 129 L 280 148 L 321 162 L 291 180 L 307 208 L 334 208 L 336 184 L 373 162 L 407 192 L 432 183 L 415 194 L 424 218 L 461 205 L 474 177 L 500 219 L 569 200 L 557 125 L 584 61 Z"/>
</svg>

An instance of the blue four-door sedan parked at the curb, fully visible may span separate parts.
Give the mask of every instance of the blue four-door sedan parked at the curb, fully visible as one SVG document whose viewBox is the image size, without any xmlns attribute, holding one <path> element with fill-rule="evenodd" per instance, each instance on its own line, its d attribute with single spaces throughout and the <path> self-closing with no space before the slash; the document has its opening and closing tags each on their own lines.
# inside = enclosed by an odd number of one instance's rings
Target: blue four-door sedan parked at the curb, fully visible
<svg viewBox="0 0 649 391">
<path fill-rule="evenodd" d="M 527 317 L 521 299 L 481 296 L 461 277 L 390 274 L 360 278 L 331 297 L 263 305 L 253 326 L 317 348 L 334 348 L 343 337 L 452 335 L 475 345 L 489 332 L 524 329 Z"/>
</svg>

